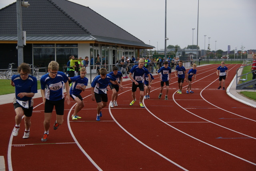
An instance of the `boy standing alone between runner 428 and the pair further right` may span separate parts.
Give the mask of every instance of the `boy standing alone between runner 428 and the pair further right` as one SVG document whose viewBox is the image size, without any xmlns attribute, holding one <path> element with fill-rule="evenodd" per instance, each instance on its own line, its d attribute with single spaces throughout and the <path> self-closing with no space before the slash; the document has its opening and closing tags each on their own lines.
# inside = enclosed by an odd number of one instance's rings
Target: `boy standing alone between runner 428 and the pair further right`
<svg viewBox="0 0 256 171">
<path fill-rule="evenodd" d="M 169 91 L 169 84 L 171 84 L 171 72 L 172 69 L 168 66 L 168 61 L 164 61 L 164 66 L 162 66 L 158 70 L 158 77 L 161 82 L 161 88 L 160 88 L 160 94 L 158 96 L 158 99 L 161 99 L 162 96 L 162 91 L 164 89 L 164 83 L 166 85 L 166 95 L 165 95 L 165 100 L 168 100 L 168 91 Z M 161 73 L 161 74 L 159 74 Z"/>
</svg>

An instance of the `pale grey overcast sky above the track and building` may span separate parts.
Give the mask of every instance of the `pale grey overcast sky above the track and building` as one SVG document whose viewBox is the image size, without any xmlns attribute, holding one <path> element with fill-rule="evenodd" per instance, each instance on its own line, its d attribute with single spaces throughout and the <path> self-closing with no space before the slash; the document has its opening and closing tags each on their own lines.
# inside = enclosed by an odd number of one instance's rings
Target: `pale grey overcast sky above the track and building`
<svg viewBox="0 0 256 171">
<path fill-rule="evenodd" d="M 165 0 L 70 1 L 88 6 L 144 43 L 164 49 Z M 0 0 L 0 8 L 12 2 L 16 1 Z M 167 46 L 192 45 L 192 28 L 197 44 L 197 11 L 198 0 L 167 0 Z M 255 19 L 256 0 L 199 0 L 198 46 L 207 49 L 210 40 L 211 50 L 215 45 L 223 51 L 228 45 L 230 50 L 235 46 L 241 50 L 242 45 L 244 50 L 256 50 Z"/>
</svg>

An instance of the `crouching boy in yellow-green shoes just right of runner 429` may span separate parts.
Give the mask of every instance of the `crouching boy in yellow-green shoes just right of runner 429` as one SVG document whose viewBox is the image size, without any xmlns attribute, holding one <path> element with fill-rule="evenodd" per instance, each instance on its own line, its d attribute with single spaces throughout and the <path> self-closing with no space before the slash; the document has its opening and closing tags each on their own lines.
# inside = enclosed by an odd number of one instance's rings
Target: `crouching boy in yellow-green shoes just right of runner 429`
<svg viewBox="0 0 256 171">
<path fill-rule="evenodd" d="M 82 67 L 80 69 L 80 76 L 75 76 L 69 78 L 72 81 L 72 86 L 70 87 L 70 97 L 76 101 L 75 111 L 72 115 L 72 120 L 81 119 L 77 113 L 84 107 L 84 101 L 80 93 L 86 89 L 88 85 L 88 78 L 85 77 L 86 68 Z"/>
</svg>

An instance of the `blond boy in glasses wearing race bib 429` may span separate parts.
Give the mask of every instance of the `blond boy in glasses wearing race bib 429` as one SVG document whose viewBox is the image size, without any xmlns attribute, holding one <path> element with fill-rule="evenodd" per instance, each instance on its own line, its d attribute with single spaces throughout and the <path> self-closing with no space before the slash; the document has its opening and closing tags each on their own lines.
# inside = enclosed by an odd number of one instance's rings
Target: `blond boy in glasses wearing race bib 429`
<svg viewBox="0 0 256 171">
<path fill-rule="evenodd" d="M 68 77 L 63 72 L 58 72 L 58 70 L 58 62 L 50 62 L 48 65 L 49 74 L 45 74 L 40 80 L 41 94 L 44 103 L 44 136 L 41 141 L 47 141 L 54 106 L 56 110 L 56 122 L 54 123 L 53 129 L 56 130 L 59 125 L 63 123 L 64 85 L 67 93 L 65 99 L 68 105 L 70 104 Z"/>
</svg>

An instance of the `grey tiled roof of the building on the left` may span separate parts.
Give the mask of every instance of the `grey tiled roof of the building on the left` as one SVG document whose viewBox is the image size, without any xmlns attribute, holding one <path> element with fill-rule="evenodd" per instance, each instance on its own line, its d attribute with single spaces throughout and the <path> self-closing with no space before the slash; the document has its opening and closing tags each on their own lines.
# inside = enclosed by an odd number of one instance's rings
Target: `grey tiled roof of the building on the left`
<svg viewBox="0 0 256 171">
<path fill-rule="evenodd" d="M 68 0 L 29 0 L 29 4 L 22 7 L 27 40 L 78 38 L 153 48 L 89 7 Z M 0 41 L 17 40 L 16 2 L 0 10 L 0 23 Z"/>
</svg>

